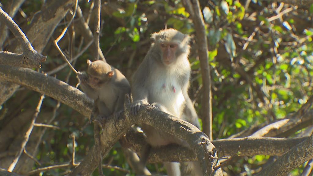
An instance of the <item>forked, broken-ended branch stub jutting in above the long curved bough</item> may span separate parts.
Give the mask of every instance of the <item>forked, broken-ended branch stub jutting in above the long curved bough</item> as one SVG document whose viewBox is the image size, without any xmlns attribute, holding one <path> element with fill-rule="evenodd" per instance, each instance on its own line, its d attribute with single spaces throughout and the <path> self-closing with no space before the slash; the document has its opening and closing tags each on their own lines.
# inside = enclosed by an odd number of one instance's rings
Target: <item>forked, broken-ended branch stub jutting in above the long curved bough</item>
<svg viewBox="0 0 313 176">
<path fill-rule="evenodd" d="M 3 9 L 0 7 L 0 14 L 1 14 L 1 21 L 3 21 L 8 28 L 11 30 L 11 32 L 14 34 L 16 39 L 18 40 L 18 43 L 21 44 L 21 47 L 23 49 L 23 57 L 21 57 L 20 54 L 14 54 L 10 52 L 0 52 L 0 64 L 8 64 L 8 65 L 14 65 L 14 66 L 22 66 L 25 68 L 41 68 L 40 63 L 44 62 L 47 59 L 47 56 L 43 56 L 42 54 L 39 54 L 30 44 L 28 41 L 26 35 L 23 33 L 23 31 L 18 27 L 18 25 L 13 21 L 13 19 L 3 11 Z M 10 60 L 7 59 L 7 57 L 4 56 L 10 56 L 9 59 L 13 59 L 13 62 L 10 63 Z M 6 60 L 7 59 L 7 60 Z M 17 60 L 19 59 L 19 62 Z"/>
</svg>

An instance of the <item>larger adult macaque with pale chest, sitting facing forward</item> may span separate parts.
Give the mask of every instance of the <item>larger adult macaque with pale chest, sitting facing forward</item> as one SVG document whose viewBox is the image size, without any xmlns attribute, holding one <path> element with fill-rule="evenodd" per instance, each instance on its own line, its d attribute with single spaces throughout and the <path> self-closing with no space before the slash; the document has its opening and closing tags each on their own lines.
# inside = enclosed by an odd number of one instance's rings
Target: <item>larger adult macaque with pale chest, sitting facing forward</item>
<svg viewBox="0 0 313 176">
<path fill-rule="evenodd" d="M 187 94 L 191 71 L 188 61 L 189 36 L 175 29 L 167 29 L 152 34 L 151 39 L 151 48 L 132 76 L 132 113 L 136 115 L 142 105 L 152 104 L 178 118 L 182 118 L 186 107 L 186 116 L 190 114 L 197 118 Z M 191 122 L 194 119 L 185 120 Z M 142 129 L 147 136 L 147 142 L 153 147 L 171 143 L 190 147 L 187 142 L 149 125 L 142 124 Z M 146 159 L 146 156 L 143 158 Z M 190 174 L 202 175 L 198 162 L 188 163 L 187 168 L 192 170 Z M 180 175 L 179 163 L 164 165 L 168 175 Z"/>
</svg>

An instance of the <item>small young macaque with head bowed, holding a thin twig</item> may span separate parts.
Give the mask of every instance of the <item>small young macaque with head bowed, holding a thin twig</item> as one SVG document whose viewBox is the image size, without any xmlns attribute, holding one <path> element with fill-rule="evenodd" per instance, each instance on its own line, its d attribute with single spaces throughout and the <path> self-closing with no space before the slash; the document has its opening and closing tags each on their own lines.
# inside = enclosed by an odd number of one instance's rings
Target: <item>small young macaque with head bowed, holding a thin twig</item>
<svg viewBox="0 0 313 176">
<path fill-rule="evenodd" d="M 130 94 L 130 85 L 125 76 L 102 60 L 87 61 L 87 74 L 80 73 L 80 86 L 87 96 L 95 101 L 98 116 L 119 117 L 124 109 L 125 94 Z"/>
</svg>

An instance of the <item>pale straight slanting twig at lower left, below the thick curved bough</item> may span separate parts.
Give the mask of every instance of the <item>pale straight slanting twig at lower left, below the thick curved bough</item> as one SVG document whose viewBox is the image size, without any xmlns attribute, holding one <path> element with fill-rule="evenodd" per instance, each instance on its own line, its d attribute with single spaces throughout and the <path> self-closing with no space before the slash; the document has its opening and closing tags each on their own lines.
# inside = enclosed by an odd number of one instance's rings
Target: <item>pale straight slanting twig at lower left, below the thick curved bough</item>
<svg viewBox="0 0 313 176">
<path fill-rule="evenodd" d="M 17 156 L 13 159 L 13 162 L 10 164 L 9 168 L 8 168 L 8 171 L 9 172 L 12 172 L 13 169 L 15 168 L 16 164 L 18 163 L 18 160 L 19 158 L 21 157 L 21 154 L 22 152 L 24 151 L 24 148 L 28 142 L 28 139 L 29 139 L 29 136 L 30 136 L 30 133 L 33 131 L 33 127 L 34 127 L 34 123 L 36 122 L 36 119 L 38 117 L 38 114 L 40 112 L 40 108 L 41 108 L 41 105 L 42 105 L 42 101 L 44 100 L 44 94 L 42 94 L 42 96 L 40 96 L 40 100 L 38 102 L 38 105 L 37 105 L 37 108 L 36 108 L 36 113 L 34 114 L 34 117 L 33 117 L 33 120 L 30 124 L 30 127 L 28 128 L 25 136 L 24 136 L 24 140 L 22 142 L 22 146 L 21 146 L 21 149 L 18 151 L 18 154 Z"/>
</svg>

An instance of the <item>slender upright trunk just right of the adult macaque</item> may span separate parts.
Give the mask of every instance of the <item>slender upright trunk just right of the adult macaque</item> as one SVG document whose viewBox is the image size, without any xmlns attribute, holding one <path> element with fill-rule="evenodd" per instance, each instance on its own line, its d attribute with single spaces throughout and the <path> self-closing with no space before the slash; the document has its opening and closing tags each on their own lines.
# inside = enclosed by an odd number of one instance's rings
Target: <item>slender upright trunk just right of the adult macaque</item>
<svg viewBox="0 0 313 176">
<path fill-rule="evenodd" d="M 182 1 L 187 12 L 191 15 L 194 28 L 196 31 L 198 54 L 201 67 L 201 75 L 203 82 L 203 97 L 202 97 L 202 122 L 203 132 L 208 135 L 210 140 L 213 140 L 212 135 L 212 83 L 211 72 L 208 63 L 208 41 L 205 34 L 205 24 L 203 15 L 200 9 L 199 1 Z"/>
</svg>

